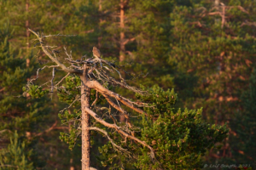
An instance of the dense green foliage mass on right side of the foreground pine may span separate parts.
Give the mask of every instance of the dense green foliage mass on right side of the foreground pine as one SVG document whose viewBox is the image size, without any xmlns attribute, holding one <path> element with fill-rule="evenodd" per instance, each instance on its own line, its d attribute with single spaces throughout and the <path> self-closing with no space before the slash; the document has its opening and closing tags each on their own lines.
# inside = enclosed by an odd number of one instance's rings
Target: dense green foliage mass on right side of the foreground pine
<svg viewBox="0 0 256 170">
<path fill-rule="evenodd" d="M 143 88 L 145 89 L 145 88 Z M 147 147 L 139 146 L 130 140 L 121 141 L 117 134 L 108 133 L 131 155 L 120 156 L 112 144 L 105 144 L 100 150 L 103 166 L 133 167 L 137 169 L 194 169 L 201 168 L 201 156 L 227 137 L 226 125 L 215 126 L 202 121 L 200 110 L 175 109 L 177 99 L 174 90 L 164 91 L 154 86 L 148 88 L 146 96 L 137 94 L 138 98 L 150 105 L 143 110 L 148 114 L 139 127 L 137 138 L 154 149 L 155 157 Z M 150 118 L 152 117 L 152 118 Z M 132 157 L 132 158 L 131 158 Z M 115 165 L 117 164 L 117 165 Z"/>
</svg>

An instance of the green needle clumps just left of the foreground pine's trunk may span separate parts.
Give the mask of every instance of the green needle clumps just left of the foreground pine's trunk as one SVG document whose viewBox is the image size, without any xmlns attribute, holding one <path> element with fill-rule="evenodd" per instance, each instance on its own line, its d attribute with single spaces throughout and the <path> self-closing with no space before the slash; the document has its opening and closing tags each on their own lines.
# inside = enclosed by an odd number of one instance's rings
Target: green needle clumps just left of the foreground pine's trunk
<svg viewBox="0 0 256 170">
<path fill-rule="evenodd" d="M 75 144 L 80 144 L 80 133 L 81 129 L 78 127 L 81 127 L 81 102 L 80 102 L 80 85 L 81 80 L 78 76 L 69 76 L 66 78 L 66 83 L 61 86 L 61 88 L 58 88 L 58 97 L 59 99 L 67 103 L 69 106 L 62 110 L 58 116 L 61 119 L 61 123 L 64 125 L 69 126 L 70 131 L 69 133 L 60 133 L 60 139 L 61 141 L 65 141 L 69 145 L 69 149 L 73 150 Z M 90 94 L 90 104 L 96 99 L 96 91 L 91 90 Z M 105 101 L 101 97 L 96 101 L 97 104 L 104 104 Z M 70 108 L 70 109 L 68 109 Z M 67 110 L 68 109 L 68 110 Z M 96 108 L 91 108 L 96 109 Z M 72 123 L 70 123 L 72 122 Z M 94 123 L 94 120 L 91 120 L 92 123 Z M 94 133 L 91 133 L 92 136 L 94 136 Z M 93 144 L 93 138 L 91 138 L 91 144 Z"/>
</svg>

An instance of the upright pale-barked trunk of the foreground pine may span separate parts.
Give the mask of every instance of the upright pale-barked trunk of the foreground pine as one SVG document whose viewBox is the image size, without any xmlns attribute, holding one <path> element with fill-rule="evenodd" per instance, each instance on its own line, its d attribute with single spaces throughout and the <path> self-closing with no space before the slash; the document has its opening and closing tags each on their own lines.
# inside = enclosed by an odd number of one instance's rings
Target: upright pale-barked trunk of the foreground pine
<svg viewBox="0 0 256 170">
<path fill-rule="evenodd" d="M 90 108 L 90 88 L 85 86 L 88 81 L 88 68 L 84 65 L 81 78 L 81 109 L 82 109 L 82 170 L 90 170 L 90 115 L 85 108 Z"/>
</svg>

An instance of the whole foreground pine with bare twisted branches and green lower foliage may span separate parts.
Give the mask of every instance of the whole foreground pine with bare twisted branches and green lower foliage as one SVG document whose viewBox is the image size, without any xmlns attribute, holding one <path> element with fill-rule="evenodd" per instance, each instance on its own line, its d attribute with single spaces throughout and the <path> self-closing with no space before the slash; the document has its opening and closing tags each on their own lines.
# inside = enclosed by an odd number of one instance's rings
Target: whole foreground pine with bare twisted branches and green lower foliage
<svg viewBox="0 0 256 170">
<path fill-rule="evenodd" d="M 63 93 L 63 98 L 71 96 L 74 92 L 73 98 L 68 99 L 70 105 L 61 111 L 62 118 L 68 117 L 67 126 L 73 129 L 70 130 L 69 136 L 62 134 L 62 137 L 67 143 L 72 144 L 81 138 L 83 170 L 93 169 L 90 167 L 90 131 L 102 133 L 109 141 L 109 144 L 104 146 L 105 151 L 102 151 L 106 158 L 102 165 L 111 167 L 113 163 L 118 163 L 119 168 L 123 169 L 128 164 L 137 169 L 199 168 L 200 158 L 206 149 L 212 148 L 226 137 L 228 130 L 225 126 L 211 127 L 201 122 L 201 109 L 182 111 L 173 108 L 177 99 L 173 89 L 164 91 L 157 86 L 141 89 L 131 87 L 122 77 L 123 69 L 119 65 L 101 56 L 90 59 L 84 56 L 74 60 L 64 48 L 64 54 L 67 55 L 65 60 L 69 65 L 66 66 L 67 64 L 64 65 L 60 61 L 60 52 L 56 51 L 54 46 L 47 45 L 45 41 L 49 37 L 64 35 L 44 36 L 43 33 L 29 31 L 37 37 L 31 42 L 55 65 L 44 65 L 43 68 L 39 68 L 37 77 L 27 82 L 26 93 L 34 97 L 46 93 L 43 85 L 33 84 L 39 77 L 39 71 L 45 68 L 52 68 L 51 80 L 44 83 L 50 84 L 50 92 L 56 88 Z M 54 82 L 56 69 L 67 72 L 67 76 L 62 77 L 59 82 Z M 111 76 L 113 74 L 116 74 L 117 78 Z M 68 87 L 60 86 L 65 79 L 73 84 Z M 114 93 L 109 90 L 109 85 L 120 86 L 136 93 L 138 100 L 126 99 Z M 98 100 L 104 100 L 106 103 L 98 105 Z M 73 105 L 80 105 L 80 109 L 70 114 L 67 110 Z M 117 114 L 125 116 L 125 123 L 117 121 Z M 141 118 L 139 126 L 133 124 L 132 117 Z M 72 126 L 70 122 L 73 122 Z M 125 156 L 127 161 L 116 161 L 121 156 Z"/>
</svg>

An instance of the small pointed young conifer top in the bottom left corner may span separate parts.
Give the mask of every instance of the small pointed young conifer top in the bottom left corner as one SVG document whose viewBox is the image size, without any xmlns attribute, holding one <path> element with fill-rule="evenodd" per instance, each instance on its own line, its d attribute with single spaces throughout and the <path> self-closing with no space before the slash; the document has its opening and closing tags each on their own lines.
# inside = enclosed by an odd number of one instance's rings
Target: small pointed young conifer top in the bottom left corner
<svg viewBox="0 0 256 170">
<path fill-rule="evenodd" d="M 10 138 L 7 148 L 0 150 L 1 170 L 32 170 L 34 169 L 31 160 L 32 150 L 28 150 L 25 141 L 20 142 L 18 133 L 14 133 L 14 138 Z"/>
</svg>

